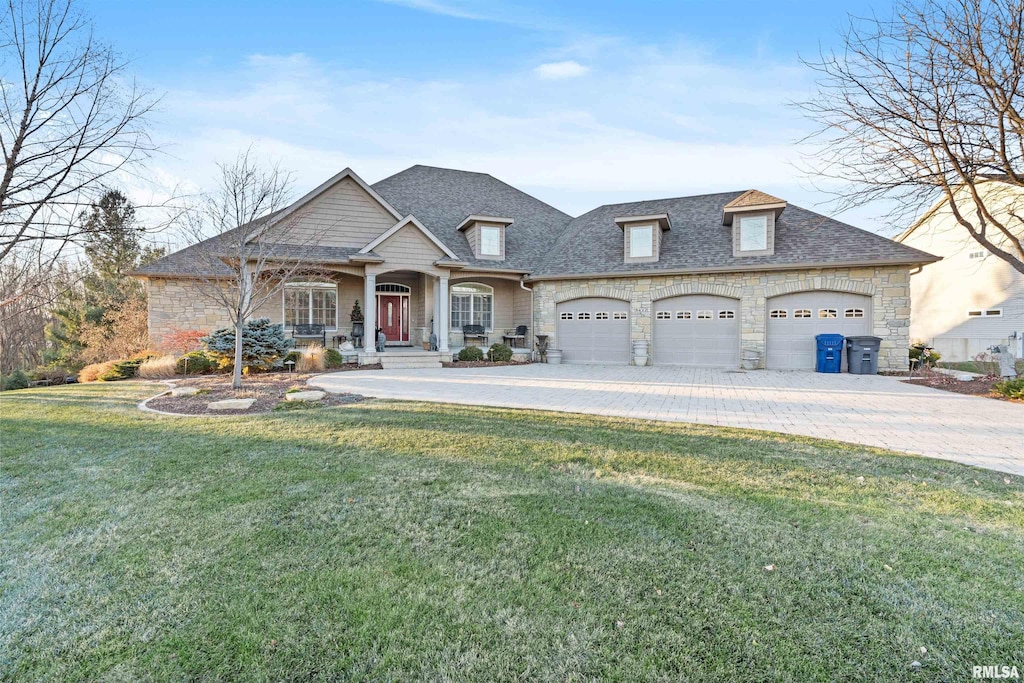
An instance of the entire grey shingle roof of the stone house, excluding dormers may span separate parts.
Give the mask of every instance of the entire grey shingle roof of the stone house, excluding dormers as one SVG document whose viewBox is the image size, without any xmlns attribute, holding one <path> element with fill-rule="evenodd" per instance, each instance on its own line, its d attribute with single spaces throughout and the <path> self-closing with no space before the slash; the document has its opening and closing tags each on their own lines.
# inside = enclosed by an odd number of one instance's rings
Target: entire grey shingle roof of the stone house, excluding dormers
<svg viewBox="0 0 1024 683">
<path fill-rule="evenodd" d="M 735 258 L 732 228 L 722 224 L 722 209 L 743 191 L 608 204 L 573 219 L 486 173 L 413 166 L 373 187 L 402 215 L 415 215 L 469 267 L 523 270 L 535 278 L 937 260 L 925 252 L 792 204 L 776 221 L 772 256 Z M 658 261 L 624 263 L 623 229 L 613 219 L 663 213 L 669 215 L 672 229 L 663 233 Z M 473 214 L 508 216 L 515 221 L 506 229 L 505 260 L 474 258 L 466 234 L 457 229 Z M 216 249 L 219 241 L 229 242 L 242 229 L 169 254 L 137 274 L 227 274 L 224 266 L 222 272 L 202 272 L 209 261 L 199 254 Z M 302 256 L 323 262 L 345 262 L 358 251 L 347 247 L 296 246 L 280 246 L 279 250 L 282 257 Z"/>
</svg>

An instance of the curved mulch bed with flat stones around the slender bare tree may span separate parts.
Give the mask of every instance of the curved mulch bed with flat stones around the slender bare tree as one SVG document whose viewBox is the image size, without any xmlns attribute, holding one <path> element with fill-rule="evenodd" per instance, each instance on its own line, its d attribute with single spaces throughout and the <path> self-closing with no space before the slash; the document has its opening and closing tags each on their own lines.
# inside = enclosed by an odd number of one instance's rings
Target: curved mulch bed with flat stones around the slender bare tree
<svg viewBox="0 0 1024 683">
<path fill-rule="evenodd" d="M 331 370 L 330 372 L 336 371 Z M 146 405 L 157 411 L 177 413 L 179 415 L 255 415 L 258 413 L 268 413 L 278 408 L 279 404 L 283 408 L 287 407 L 294 410 L 305 407 L 305 404 L 285 401 L 285 393 L 292 388 L 302 389 L 303 391 L 316 389 L 316 387 L 306 384 L 306 380 L 310 377 L 315 377 L 315 375 L 300 373 L 251 375 L 242 379 L 243 386 L 239 390 L 231 388 L 230 376 L 209 375 L 206 377 L 193 377 L 179 380 L 174 383 L 174 386 L 198 387 L 202 390 L 202 393 L 195 396 L 171 396 L 167 394 L 151 399 Z M 227 398 L 255 398 L 256 401 L 245 411 L 209 410 L 208 405 L 211 402 Z M 328 393 L 323 399 L 309 404 L 345 405 L 361 400 L 366 400 L 366 396 Z"/>
</svg>

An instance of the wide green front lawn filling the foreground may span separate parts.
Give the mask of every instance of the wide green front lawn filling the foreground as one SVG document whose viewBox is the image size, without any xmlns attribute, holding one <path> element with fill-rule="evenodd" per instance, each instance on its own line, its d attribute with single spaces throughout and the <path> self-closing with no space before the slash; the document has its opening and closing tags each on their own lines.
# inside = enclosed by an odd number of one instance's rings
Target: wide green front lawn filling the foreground
<svg viewBox="0 0 1024 683">
<path fill-rule="evenodd" d="M 964 681 L 1024 665 L 1018 477 L 497 409 L 136 411 L 153 392 L 0 398 L 4 680 Z"/>
</svg>

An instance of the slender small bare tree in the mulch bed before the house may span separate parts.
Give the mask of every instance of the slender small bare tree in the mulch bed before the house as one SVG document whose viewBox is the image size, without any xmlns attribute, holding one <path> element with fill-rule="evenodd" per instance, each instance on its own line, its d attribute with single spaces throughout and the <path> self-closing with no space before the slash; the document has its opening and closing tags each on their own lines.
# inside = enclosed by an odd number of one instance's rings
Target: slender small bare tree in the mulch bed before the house
<svg viewBox="0 0 1024 683">
<path fill-rule="evenodd" d="M 220 165 L 217 190 L 188 212 L 186 231 L 206 238 L 194 249 L 199 291 L 234 328 L 231 386 L 242 387 L 246 322 L 298 275 L 319 276 L 314 252 L 325 228 L 287 207 L 291 175 L 261 168 L 251 151 Z M 209 237 L 212 236 L 212 237 Z"/>
</svg>

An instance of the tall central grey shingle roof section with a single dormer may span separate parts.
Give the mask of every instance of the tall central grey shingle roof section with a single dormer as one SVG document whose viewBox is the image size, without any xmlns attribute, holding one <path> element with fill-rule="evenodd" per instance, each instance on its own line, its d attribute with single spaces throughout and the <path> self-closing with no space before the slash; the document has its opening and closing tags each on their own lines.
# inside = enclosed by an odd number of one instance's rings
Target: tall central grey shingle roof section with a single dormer
<svg viewBox="0 0 1024 683">
<path fill-rule="evenodd" d="M 413 214 L 471 267 L 531 270 L 572 217 L 486 173 L 413 166 L 373 188 L 402 215 Z M 505 260 L 477 259 L 458 226 L 467 216 L 508 216 Z"/>
</svg>

